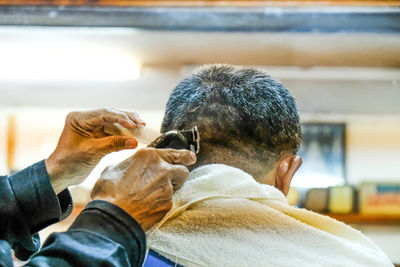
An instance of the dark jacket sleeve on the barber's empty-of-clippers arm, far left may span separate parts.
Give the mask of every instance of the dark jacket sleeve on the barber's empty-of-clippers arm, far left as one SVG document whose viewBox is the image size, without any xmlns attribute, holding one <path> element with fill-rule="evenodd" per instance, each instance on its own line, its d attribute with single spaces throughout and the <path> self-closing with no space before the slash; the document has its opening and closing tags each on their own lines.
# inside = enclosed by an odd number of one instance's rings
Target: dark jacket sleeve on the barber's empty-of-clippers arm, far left
<svg viewBox="0 0 400 267">
<path fill-rule="evenodd" d="M 37 232 L 67 217 L 72 199 L 66 189 L 56 195 L 40 161 L 14 175 L 0 177 L 0 240 L 27 260 L 40 247 Z M 4 242 L 0 250 L 6 249 Z"/>
</svg>

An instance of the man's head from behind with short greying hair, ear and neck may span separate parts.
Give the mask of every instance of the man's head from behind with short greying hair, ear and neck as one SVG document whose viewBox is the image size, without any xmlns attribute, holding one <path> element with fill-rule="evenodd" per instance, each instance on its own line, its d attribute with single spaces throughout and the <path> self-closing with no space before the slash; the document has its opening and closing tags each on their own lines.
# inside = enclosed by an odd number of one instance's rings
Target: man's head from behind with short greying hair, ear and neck
<svg viewBox="0 0 400 267">
<path fill-rule="evenodd" d="M 295 156 L 301 128 L 295 100 L 281 83 L 252 68 L 204 66 L 173 90 L 161 132 L 194 126 L 201 137 L 195 167 L 234 166 L 287 193 L 301 164 Z"/>
</svg>

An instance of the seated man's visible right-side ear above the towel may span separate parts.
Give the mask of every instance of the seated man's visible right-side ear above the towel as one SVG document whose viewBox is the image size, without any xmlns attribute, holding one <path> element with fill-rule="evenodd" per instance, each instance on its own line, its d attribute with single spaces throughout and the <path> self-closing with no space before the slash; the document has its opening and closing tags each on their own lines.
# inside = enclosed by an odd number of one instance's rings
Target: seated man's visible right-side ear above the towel
<svg viewBox="0 0 400 267">
<path fill-rule="evenodd" d="M 297 155 L 284 157 L 279 161 L 275 174 L 275 187 L 285 196 L 288 194 L 290 182 L 302 162 L 301 157 Z"/>
</svg>

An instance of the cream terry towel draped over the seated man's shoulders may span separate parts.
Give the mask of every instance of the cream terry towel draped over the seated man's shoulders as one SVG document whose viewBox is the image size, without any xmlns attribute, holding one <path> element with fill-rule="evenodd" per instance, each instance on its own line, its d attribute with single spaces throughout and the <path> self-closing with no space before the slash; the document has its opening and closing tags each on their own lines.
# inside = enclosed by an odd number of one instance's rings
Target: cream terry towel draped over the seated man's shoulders
<svg viewBox="0 0 400 267">
<path fill-rule="evenodd" d="M 361 232 L 220 164 L 191 172 L 148 246 L 184 266 L 393 266 Z"/>
</svg>

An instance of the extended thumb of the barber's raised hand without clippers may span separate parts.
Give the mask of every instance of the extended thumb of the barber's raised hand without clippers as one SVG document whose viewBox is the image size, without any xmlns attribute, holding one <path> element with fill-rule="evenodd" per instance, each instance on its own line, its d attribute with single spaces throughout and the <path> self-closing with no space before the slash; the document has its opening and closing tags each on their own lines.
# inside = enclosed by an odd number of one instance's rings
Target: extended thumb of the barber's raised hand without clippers
<svg viewBox="0 0 400 267">
<path fill-rule="evenodd" d="M 120 151 L 123 149 L 133 149 L 138 146 L 138 142 L 135 138 L 121 135 L 98 138 L 94 141 L 96 150 L 104 154 Z"/>
</svg>

